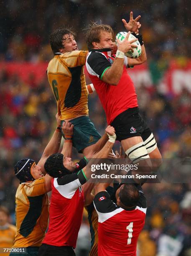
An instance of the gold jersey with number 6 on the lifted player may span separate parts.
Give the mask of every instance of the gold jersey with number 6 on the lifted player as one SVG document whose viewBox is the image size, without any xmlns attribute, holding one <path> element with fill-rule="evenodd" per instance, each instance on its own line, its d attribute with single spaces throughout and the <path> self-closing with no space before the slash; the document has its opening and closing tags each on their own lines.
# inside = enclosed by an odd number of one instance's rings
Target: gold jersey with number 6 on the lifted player
<svg viewBox="0 0 191 256">
<path fill-rule="evenodd" d="M 87 54 L 88 51 L 58 54 L 48 64 L 48 82 L 61 120 L 88 115 L 88 92 L 84 75 Z"/>
</svg>

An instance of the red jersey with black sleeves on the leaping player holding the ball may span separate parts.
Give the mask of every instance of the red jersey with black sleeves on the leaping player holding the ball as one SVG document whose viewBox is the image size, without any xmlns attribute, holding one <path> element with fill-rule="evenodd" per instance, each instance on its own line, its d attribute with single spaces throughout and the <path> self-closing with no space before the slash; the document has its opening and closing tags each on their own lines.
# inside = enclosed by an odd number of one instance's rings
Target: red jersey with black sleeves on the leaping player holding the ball
<svg viewBox="0 0 191 256">
<path fill-rule="evenodd" d="M 138 107 L 135 87 L 126 69 L 126 56 L 117 86 L 102 81 L 104 72 L 111 67 L 114 59 L 115 55 L 111 56 L 110 49 L 91 49 L 86 61 L 87 72 L 105 110 L 108 125 L 128 108 Z"/>
</svg>

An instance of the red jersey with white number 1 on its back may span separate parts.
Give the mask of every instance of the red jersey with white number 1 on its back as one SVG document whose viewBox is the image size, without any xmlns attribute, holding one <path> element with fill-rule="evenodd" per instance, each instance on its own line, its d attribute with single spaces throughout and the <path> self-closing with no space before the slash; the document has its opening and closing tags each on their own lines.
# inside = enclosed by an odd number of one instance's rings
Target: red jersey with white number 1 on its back
<svg viewBox="0 0 191 256">
<path fill-rule="evenodd" d="M 138 236 L 145 224 L 146 199 L 140 191 L 140 200 L 134 210 L 124 210 L 110 199 L 106 191 L 94 198 L 98 213 L 98 255 L 136 256 Z"/>
</svg>

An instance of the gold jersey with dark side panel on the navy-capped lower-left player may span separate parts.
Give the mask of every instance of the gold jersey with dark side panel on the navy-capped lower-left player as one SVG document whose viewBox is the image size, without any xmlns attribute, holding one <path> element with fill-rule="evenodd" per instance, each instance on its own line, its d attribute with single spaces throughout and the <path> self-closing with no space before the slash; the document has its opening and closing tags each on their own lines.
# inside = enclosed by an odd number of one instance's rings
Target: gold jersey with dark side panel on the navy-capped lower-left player
<svg viewBox="0 0 191 256">
<path fill-rule="evenodd" d="M 15 197 L 17 233 L 13 248 L 41 246 L 49 217 L 45 178 L 20 184 Z"/>
</svg>

